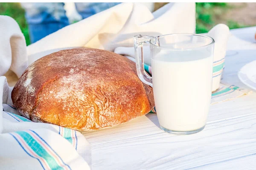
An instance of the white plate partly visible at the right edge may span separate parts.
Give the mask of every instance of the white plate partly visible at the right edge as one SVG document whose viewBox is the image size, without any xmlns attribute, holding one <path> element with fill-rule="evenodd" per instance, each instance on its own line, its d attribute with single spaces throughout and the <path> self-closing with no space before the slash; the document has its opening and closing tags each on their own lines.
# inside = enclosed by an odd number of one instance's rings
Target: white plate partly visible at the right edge
<svg viewBox="0 0 256 170">
<path fill-rule="evenodd" d="M 244 65 L 239 70 L 238 77 L 245 85 L 256 90 L 256 60 Z"/>
</svg>

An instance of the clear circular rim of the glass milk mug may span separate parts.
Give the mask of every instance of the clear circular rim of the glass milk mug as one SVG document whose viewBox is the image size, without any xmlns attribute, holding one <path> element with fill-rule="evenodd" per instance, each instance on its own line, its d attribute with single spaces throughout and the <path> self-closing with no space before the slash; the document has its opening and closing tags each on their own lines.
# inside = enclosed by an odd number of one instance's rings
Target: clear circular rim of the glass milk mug
<svg viewBox="0 0 256 170">
<path fill-rule="evenodd" d="M 160 35 L 160 36 L 157 36 L 155 38 L 161 38 L 161 37 L 166 37 L 166 36 L 169 36 L 169 35 L 189 35 L 189 36 L 199 36 L 199 37 L 204 37 L 204 38 L 207 38 L 209 40 L 211 40 L 211 42 L 209 42 L 208 44 L 206 45 L 201 45 L 201 46 L 198 46 L 198 47 L 193 47 L 193 48 L 190 48 L 190 49 L 175 49 L 175 48 L 168 48 L 168 47 L 161 47 L 161 46 L 157 46 L 155 45 L 154 43 L 152 43 L 152 41 L 154 39 L 151 39 L 149 41 L 149 43 L 151 45 L 154 45 L 155 47 L 157 48 L 162 48 L 162 49 L 165 49 L 165 50 L 172 50 L 172 51 L 181 51 L 181 50 L 195 50 L 195 49 L 198 49 L 198 48 L 202 48 L 202 47 L 206 47 L 206 46 L 209 46 L 209 45 L 212 45 L 215 43 L 215 40 L 212 38 L 212 37 L 209 37 L 207 35 L 202 35 L 202 34 L 191 34 L 191 33 L 174 33 L 174 34 L 165 34 L 165 35 Z"/>
</svg>

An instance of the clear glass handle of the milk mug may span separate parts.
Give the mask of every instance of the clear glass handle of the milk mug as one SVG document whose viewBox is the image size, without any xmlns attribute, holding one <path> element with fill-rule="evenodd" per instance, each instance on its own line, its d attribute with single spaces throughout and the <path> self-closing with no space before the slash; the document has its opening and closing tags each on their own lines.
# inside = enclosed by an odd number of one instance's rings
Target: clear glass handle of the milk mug
<svg viewBox="0 0 256 170">
<path fill-rule="evenodd" d="M 142 82 L 144 82 L 147 85 L 150 85 L 151 87 L 153 87 L 152 77 L 146 74 L 146 71 L 144 69 L 143 44 L 144 43 L 149 44 L 149 41 L 154 38 L 155 37 L 151 37 L 148 35 L 134 36 L 135 61 L 136 61 L 137 74 Z"/>
</svg>

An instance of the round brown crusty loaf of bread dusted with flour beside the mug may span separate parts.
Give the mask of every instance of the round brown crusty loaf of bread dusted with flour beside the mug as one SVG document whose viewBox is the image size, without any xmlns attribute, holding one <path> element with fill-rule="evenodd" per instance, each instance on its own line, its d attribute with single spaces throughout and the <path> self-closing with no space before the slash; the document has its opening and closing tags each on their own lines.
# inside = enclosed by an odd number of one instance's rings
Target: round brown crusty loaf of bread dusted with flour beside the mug
<svg viewBox="0 0 256 170">
<path fill-rule="evenodd" d="M 34 122 L 96 130 L 128 122 L 154 107 L 152 88 L 135 63 L 110 51 L 75 48 L 33 62 L 12 91 L 19 113 Z"/>
</svg>

